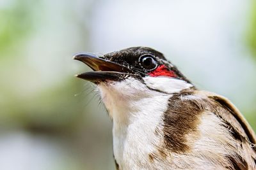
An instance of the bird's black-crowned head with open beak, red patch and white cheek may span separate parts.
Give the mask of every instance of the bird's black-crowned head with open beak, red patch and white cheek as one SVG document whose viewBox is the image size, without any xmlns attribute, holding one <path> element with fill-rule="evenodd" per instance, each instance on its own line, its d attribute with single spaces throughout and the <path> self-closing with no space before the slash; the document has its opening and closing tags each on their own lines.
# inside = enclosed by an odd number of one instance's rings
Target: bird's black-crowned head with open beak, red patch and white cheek
<svg viewBox="0 0 256 170">
<path fill-rule="evenodd" d="M 132 47 L 102 56 L 79 53 L 74 59 L 93 69 L 77 74 L 77 77 L 92 81 L 99 87 L 108 110 L 118 105 L 119 101 L 129 103 L 193 88 L 177 67 L 152 48 Z"/>
</svg>

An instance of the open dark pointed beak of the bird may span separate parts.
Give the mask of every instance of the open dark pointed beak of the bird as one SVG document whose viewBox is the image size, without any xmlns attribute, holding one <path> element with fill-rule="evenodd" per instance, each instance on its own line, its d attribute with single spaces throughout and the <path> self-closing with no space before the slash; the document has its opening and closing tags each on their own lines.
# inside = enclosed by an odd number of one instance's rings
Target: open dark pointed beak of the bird
<svg viewBox="0 0 256 170">
<path fill-rule="evenodd" d="M 118 81 L 127 74 L 132 73 L 131 69 L 125 66 L 102 59 L 93 53 L 79 53 L 73 57 L 93 69 L 93 71 L 77 74 L 78 78 L 98 83 L 104 80 Z"/>
</svg>

